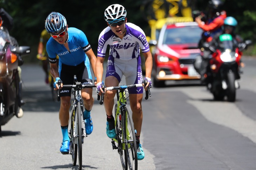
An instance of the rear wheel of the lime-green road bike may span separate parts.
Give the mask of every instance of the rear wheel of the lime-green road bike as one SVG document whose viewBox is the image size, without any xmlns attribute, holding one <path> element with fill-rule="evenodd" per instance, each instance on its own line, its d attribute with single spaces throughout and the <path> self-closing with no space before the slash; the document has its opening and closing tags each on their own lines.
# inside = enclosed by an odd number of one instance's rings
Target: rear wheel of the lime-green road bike
<svg viewBox="0 0 256 170">
<path fill-rule="evenodd" d="M 116 116 L 116 111 L 117 111 L 117 104 L 115 104 L 115 118 L 116 118 L 116 138 L 117 138 L 117 145 L 118 145 L 118 153 L 120 155 L 120 160 L 121 160 L 121 164 L 122 164 L 122 168 L 123 170 L 127 170 L 127 159 L 126 159 L 126 154 L 124 153 L 123 150 L 123 145 L 122 145 L 122 126 L 121 126 L 121 120 L 119 118 L 119 116 Z"/>
</svg>

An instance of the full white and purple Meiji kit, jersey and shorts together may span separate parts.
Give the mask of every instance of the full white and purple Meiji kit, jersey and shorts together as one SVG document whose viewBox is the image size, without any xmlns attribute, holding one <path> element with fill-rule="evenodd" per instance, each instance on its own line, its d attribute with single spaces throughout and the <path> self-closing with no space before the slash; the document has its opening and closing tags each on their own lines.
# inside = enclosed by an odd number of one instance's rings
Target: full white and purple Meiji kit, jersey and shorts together
<svg viewBox="0 0 256 170">
<path fill-rule="evenodd" d="M 124 75 L 127 85 L 142 83 L 140 49 L 143 53 L 148 52 L 149 44 L 140 27 L 126 23 L 122 39 L 107 27 L 101 32 L 98 43 L 97 57 L 105 57 L 107 46 L 110 47 L 106 77 L 114 76 L 120 82 Z M 141 94 L 143 88 L 129 88 L 128 91 Z"/>
</svg>

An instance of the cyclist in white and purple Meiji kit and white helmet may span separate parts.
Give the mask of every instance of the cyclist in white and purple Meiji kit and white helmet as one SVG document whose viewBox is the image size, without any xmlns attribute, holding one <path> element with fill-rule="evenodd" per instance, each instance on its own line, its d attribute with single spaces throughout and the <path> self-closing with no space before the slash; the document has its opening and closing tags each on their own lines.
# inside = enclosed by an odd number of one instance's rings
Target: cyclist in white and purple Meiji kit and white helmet
<svg viewBox="0 0 256 170">
<path fill-rule="evenodd" d="M 100 95 L 103 93 L 103 61 L 108 45 L 110 46 L 110 51 L 105 79 L 106 87 L 118 86 L 123 75 L 126 77 L 126 84 L 142 83 L 140 49 L 145 57 L 145 79 L 148 80 L 146 87 L 152 87 L 150 79 L 153 65 L 152 54 L 142 29 L 132 23 L 127 23 L 126 9 L 119 4 L 110 5 L 105 10 L 104 18 L 107 21 L 108 27 L 99 36 L 96 60 L 97 93 Z M 140 134 L 143 118 L 141 107 L 143 88 L 129 88 L 128 91 L 130 94 L 130 106 L 133 112 L 134 128 L 137 131 L 138 160 L 142 160 L 144 152 L 140 144 Z M 116 136 L 112 114 L 115 94 L 116 90 L 108 90 L 104 97 L 104 106 L 107 114 L 106 132 L 109 138 L 115 138 Z"/>
</svg>

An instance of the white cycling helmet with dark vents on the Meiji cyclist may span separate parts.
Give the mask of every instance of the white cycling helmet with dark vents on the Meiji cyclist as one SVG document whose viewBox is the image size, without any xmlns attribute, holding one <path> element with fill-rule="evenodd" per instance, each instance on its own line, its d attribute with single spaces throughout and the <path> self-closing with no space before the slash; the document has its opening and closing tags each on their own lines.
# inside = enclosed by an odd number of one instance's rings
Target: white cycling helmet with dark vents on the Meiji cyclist
<svg viewBox="0 0 256 170">
<path fill-rule="evenodd" d="M 107 7 L 104 13 L 104 19 L 108 23 L 118 22 L 125 19 L 126 9 L 119 4 L 113 4 Z"/>
</svg>

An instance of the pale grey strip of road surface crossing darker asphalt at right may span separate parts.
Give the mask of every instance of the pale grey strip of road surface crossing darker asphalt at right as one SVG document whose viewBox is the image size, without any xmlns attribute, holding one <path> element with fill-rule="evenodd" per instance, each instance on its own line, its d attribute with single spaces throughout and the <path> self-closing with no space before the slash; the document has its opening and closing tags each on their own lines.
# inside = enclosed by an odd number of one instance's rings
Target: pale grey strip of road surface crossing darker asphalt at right
<svg viewBox="0 0 256 170">
<path fill-rule="evenodd" d="M 206 93 L 198 89 L 182 91 L 195 99 L 207 96 Z M 211 94 L 209 93 L 209 95 Z M 194 105 L 208 121 L 231 128 L 256 143 L 256 121 L 244 115 L 234 103 L 196 100 L 187 102 Z"/>
</svg>

